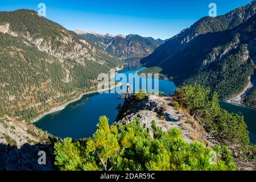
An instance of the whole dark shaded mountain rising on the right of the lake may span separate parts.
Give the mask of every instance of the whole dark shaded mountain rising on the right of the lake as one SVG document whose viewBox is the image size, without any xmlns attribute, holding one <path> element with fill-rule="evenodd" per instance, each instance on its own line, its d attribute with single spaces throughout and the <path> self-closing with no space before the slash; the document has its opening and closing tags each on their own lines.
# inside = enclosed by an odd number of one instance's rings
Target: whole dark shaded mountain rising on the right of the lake
<svg viewBox="0 0 256 182">
<path fill-rule="evenodd" d="M 161 67 L 177 84 L 209 86 L 222 99 L 232 98 L 247 88 L 249 78 L 255 77 L 255 9 L 253 1 L 216 18 L 201 18 L 141 63 Z M 256 106 L 256 90 L 250 94 L 254 97 L 243 102 Z"/>
</svg>

